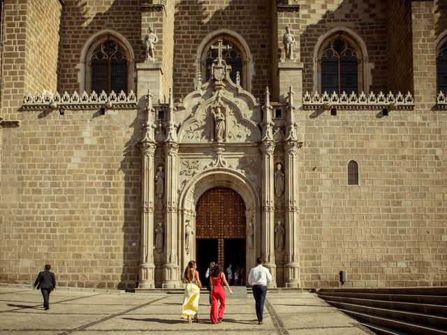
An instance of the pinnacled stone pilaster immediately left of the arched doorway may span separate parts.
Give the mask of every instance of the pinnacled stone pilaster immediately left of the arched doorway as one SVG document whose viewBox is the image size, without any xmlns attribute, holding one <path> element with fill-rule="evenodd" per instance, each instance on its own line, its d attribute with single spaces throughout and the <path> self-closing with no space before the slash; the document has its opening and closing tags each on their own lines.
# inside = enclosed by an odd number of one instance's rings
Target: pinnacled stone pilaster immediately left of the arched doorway
<svg viewBox="0 0 447 335">
<path fill-rule="evenodd" d="M 179 263 L 177 246 L 177 189 L 178 189 L 178 162 L 177 154 L 179 144 L 177 141 L 177 124 L 174 121 L 174 101 L 173 92 L 169 92 L 169 104 L 167 113 L 167 130 L 165 149 L 165 195 L 166 195 L 166 253 L 165 264 L 163 265 L 163 288 L 179 288 Z M 180 244 L 181 245 L 181 244 Z"/>
</svg>

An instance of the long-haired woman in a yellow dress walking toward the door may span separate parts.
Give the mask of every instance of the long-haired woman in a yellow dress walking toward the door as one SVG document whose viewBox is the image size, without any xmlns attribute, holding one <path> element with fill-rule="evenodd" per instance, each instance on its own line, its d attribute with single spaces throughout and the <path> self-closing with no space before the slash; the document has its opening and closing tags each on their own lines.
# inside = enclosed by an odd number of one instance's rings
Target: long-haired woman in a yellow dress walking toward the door
<svg viewBox="0 0 447 335">
<path fill-rule="evenodd" d="M 184 269 L 183 281 L 184 285 L 184 299 L 182 307 L 183 318 L 188 320 L 188 323 L 196 320 L 198 322 L 198 299 L 200 297 L 200 288 L 202 283 L 198 277 L 197 264 L 193 260 L 188 263 Z"/>
</svg>

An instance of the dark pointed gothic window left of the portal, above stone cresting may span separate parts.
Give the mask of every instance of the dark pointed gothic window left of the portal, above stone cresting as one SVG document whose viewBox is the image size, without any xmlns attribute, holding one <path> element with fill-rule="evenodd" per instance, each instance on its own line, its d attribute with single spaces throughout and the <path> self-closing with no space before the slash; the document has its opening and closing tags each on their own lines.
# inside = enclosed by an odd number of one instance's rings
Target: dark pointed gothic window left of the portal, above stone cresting
<svg viewBox="0 0 447 335">
<path fill-rule="evenodd" d="M 87 59 L 87 91 L 130 91 L 129 52 L 119 40 L 105 36 L 91 46 Z"/>
</svg>

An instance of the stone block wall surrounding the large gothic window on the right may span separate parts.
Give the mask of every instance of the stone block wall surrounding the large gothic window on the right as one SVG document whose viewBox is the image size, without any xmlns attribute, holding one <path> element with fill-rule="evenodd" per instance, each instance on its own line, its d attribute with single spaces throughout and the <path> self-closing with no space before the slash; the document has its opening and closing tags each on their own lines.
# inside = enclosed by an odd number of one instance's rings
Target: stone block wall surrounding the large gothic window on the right
<svg viewBox="0 0 447 335">
<path fill-rule="evenodd" d="M 368 61 L 374 63 L 370 90 L 387 91 L 386 1 L 303 1 L 300 17 L 303 91 L 314 91 L 314 50 L 317 40 L 335 27 L 351 29 L 362 38 L 367 47 Z"/>
</svg>

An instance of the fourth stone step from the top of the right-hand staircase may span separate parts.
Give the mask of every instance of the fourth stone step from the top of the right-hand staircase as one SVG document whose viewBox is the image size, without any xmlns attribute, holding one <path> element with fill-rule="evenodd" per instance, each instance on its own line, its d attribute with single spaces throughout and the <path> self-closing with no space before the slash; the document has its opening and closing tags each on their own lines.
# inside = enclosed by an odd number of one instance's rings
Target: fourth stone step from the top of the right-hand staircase
<svg viewBox="0 0 447 335">
<path fill-rule="evenodd" d="M 412 335 L 446 335 L 447 331 L 445 325 L 443 328 L 430 327 L 426 325 L 420 325 L 415 322 L 409 322 L 404 320 L 397 320 L 393 318 L 385 318 L 379 315 L 372 315 L 369 313 L 361 313 L 358 311 L 349 311 L 348 309 L 341 308 L 339 311 L 346 313 L 347 315 L 373 325 L 380 327 L 387 327 L 390 329 L 398 329 L 400 332 L 406 332 Z M 404 333 L 405 334 L 405 333 Z"/>
</svg>

